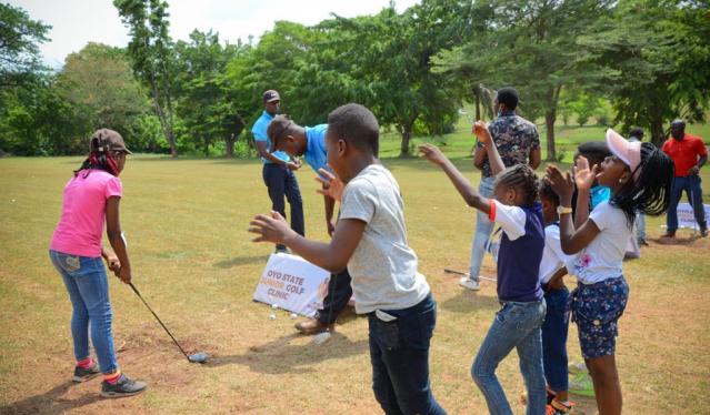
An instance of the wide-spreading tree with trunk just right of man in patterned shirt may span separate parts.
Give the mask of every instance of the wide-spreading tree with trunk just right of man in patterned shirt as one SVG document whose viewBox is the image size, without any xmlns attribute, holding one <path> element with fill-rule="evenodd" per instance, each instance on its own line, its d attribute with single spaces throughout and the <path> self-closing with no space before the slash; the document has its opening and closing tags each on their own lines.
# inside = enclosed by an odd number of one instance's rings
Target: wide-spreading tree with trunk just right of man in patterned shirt
<svg viewBox="0 0 710 415">
<path fill-rule="evenodd" d="M 591 88 L 602 77 L 579 64 L 576 40 L 589 33 L 612 6 L 607 0 L 476 2 L 473 13 L 486 29 L 461 52 L 440 53 L 438 64 L 459 71 L 471 68 L 486 85 L 516 87 L 521 112 L 532 120 L 544 115 L 547 158 L 556 160 L 554 121 L 562 89 Z"/>
</svg>

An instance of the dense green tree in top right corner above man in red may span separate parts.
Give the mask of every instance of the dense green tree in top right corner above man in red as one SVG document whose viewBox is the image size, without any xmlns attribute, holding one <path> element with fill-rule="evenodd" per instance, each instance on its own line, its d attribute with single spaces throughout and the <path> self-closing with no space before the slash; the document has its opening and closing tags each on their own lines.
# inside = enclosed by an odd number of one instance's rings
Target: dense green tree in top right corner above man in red
<svg viewBox="0 0 710 415">
<path fill-rule="evenodd" d="M 674 118 L 703 121 L 710 100 L 707 1 L 621 1 L 579 39 L 587 65 L 607 71 L 616 121 L 646 126 L 660 145 Z"/>
</svg>

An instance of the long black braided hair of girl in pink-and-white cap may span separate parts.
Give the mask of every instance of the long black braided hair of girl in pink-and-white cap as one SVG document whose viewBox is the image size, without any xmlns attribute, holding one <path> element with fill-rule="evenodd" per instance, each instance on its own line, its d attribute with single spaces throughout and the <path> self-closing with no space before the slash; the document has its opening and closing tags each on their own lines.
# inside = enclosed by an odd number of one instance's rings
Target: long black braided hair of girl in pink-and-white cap
<svg viewBox="0 0 710 415">
<path fill-rule="evenodd" d="M 676 174 L 673 161 L 656 145 L 641 143 L 641 163 L 631 178 L 611 198 L 609 203 L 619 208 L 633 225 L 637 212 L 658 216 L 668 210 L 670 190 Z M 638 178 L 637 178 L 638 175 Z"/>
</svg>

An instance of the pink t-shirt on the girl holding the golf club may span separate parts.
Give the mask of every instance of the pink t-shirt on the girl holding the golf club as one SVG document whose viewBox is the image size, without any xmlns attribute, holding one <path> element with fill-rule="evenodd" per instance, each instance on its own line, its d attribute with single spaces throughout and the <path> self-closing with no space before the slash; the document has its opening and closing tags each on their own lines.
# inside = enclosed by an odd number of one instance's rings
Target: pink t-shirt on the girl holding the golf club
<svg viewBox="0 0 710 415">
<path fill-rule="evenodd" d="M 82 170 L 71 178 L 64 186 L 61 219 L 49 249 L 71 255 L 101 256 L 106 201 L 122 193 L 121 180 L 102 170 Z"/>
</svg>

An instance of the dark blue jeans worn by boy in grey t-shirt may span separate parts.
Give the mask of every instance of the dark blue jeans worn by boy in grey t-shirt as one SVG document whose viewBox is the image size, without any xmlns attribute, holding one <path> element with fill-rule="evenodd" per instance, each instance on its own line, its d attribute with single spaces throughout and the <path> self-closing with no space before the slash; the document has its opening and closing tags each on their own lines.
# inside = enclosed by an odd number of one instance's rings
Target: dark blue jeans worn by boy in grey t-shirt
<svg viewBox="0 0 710 415">
<path fill-rule="evenodd" d="M 429 341 L 437 324 L 437 303 L 429 294 L 404 310 L 382 310 L 397 317 L 370 325 L 372 391 L 386 414 L 446 414 L 431 394 Z"/>
</svg>

